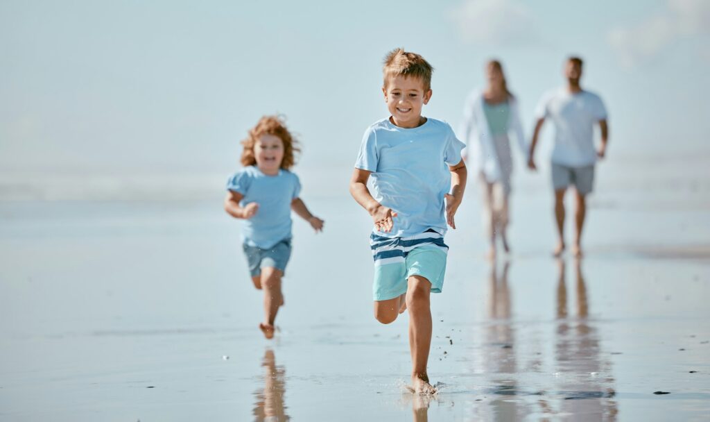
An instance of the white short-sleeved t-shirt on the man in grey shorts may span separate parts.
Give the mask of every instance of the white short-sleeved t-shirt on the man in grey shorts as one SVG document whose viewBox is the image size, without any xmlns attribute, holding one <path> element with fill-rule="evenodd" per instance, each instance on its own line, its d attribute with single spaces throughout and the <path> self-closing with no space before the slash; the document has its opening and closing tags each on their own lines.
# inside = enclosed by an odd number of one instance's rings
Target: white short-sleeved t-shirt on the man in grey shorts
<svg viewBox="0 0 710 422">
<path fill-rule="evenodd" d="M 537 104 L 535 118 L 555 123 L 552 163 L 583 167 L 596 162 L 594 124 L 606 119 L 599 95 L 584 90 L 573 93 L 567 88 L 547 92 Z"/>
</svg>

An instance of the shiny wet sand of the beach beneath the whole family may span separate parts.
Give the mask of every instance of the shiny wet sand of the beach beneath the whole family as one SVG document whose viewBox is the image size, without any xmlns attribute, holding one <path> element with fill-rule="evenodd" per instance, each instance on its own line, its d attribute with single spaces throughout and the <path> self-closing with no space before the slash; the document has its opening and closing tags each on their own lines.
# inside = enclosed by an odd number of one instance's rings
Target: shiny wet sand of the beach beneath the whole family
<svg viewBox="0 0 710 422">
<path fill-rule="evenodd" d="M 485 261 L 469 193 L 432 296 L 431 398 L 405 388 L 407 318 L 371 315 L 368 221 L 346 195 L 307 201 L 324 234 L 295 222 L 272 341 L 220 196 L 0 202 L 0 421 L 702 420 L 707 182 L 600 183 L 581 261 L 552 259 L 549 193 L 524 181 L 513 254 Z"/>
</svg>

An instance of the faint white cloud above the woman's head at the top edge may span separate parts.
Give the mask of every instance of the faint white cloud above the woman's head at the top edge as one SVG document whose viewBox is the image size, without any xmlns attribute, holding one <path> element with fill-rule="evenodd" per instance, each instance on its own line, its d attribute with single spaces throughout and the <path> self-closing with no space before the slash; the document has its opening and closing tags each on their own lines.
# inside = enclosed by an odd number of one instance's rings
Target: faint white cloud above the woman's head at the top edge
<svg viewBox="0 0 710 422">
<path fill-rule="evenodd" d="M 449 16 L 467 43 L 520 46 L 537 38 L 532 12 L 516 1 L 464 0 Z"/>
</svg>

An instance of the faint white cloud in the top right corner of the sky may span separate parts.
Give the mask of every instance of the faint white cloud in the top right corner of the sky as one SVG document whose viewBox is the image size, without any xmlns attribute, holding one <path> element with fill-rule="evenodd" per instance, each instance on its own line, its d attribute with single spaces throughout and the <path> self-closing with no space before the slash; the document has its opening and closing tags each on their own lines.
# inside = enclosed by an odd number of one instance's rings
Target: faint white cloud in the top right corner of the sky
<svg viewBox="0 0 710 422">
<path fill-rule="evenodd" d="M 668 0 L 663 13 L 640 23 L 614 28 L 607 40 L 625 67 L 655 58 L 662 50 L 684 37 L 710 34 L 710 1 Z"/>
</svg>

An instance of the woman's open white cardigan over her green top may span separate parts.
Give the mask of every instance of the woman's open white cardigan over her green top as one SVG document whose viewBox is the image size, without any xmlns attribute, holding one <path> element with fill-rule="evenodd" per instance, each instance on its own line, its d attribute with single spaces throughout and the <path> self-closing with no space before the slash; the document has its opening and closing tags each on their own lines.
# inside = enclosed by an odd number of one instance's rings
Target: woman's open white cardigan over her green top
<svg viewBox="0 0 710 422">
<path fill-rule="evenodd" d="M 501 180 L 503 171 L 501 161 L 496 155 L 496 146 L 493 144 L 491 128 L 484 113 L 483 92 L 476 90 L 471 92 L 464 104 L 464 120 L 461 122 L 459 135 L 461 141 L 466 144 L 466 152 L 469 156 L 469 166 L 472 166 L 474 173 L 482 172 L 489 182 Z M 528 157 L 528 145 L 525 142 L 523 125 L 520 123 L 520 112 L 518 102 L 513 97 L 508 98 L 510 112 L 508 114 L 508 130 L 515 133 L 518 145 L 523 151 L 526 161 Z"/>
</svg>

